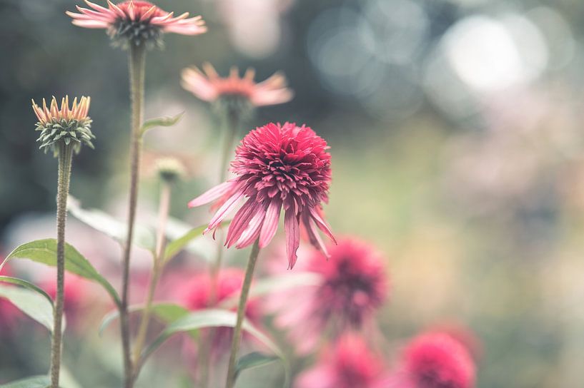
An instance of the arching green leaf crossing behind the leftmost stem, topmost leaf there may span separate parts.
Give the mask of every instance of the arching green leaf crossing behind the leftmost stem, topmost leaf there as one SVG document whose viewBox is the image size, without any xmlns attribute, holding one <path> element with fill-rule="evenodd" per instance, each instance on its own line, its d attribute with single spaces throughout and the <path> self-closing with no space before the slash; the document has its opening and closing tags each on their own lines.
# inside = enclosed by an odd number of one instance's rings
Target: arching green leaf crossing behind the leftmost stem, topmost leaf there
<svg viewBox="0 0 584 388">
<path fill-rule="evenodd" d="M 6 256 L 6 259 L 0 265 L 0 270 L 8 260 L 13 258 L 29 259 L 56 267 L 56 240 L 54 238 L 47 238 L 26 242 L 16 247 L 15 250 Z M 93 265 L 81 253 L 69 244 L 65 244 L 65 270 L 99 283 L 109 293 L 116 305 L 120 305 L 121 302 L 114 287 L 102 275 L 99 275 L 99 272 L 96 271 Z"/>
</svg>

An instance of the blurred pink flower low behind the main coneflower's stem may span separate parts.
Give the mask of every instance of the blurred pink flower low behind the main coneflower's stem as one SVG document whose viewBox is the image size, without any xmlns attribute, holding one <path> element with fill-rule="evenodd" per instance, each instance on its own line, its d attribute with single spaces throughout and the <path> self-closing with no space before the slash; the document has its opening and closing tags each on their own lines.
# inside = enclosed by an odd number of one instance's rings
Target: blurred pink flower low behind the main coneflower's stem
<svg viewBox="0 0 584 388">
<path fill-rule="evenodd" d="M 244 272 L 236 268 L 228 268 L 219 272 L 217 277 L 217 295 L 212 295 L 212 278 L 208 272 L 202 272 L 178 287 L 175 291 L 177 298 L 189 310 L 203 310 L 219 307 L 229 298 L 237 298 L 244 279 Z M 259 322 L 259 309 L 257 302 L 247 302 L 245 316 L 252 322 Z M 232 328 L 221 327 L 212 330 L 212 354 L 219 356 L 229 349 L 231 344 Z M 209 330 L 204 330 L 203 335 L 209 335 Z"/>
</svg>

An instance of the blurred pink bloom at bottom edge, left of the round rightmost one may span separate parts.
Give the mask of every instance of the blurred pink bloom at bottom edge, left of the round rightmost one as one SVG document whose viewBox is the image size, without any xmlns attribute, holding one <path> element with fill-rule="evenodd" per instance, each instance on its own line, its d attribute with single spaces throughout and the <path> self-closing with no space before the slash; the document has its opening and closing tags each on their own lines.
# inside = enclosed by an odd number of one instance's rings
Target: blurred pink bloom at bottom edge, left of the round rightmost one
<svg viewBox="0 0 584 388">
<path fill-rule="evenodd" d="M 294 388 L 381 388 L 383 360 L 355 335 L 346 335 L 324 352 Z"/>
</svg>

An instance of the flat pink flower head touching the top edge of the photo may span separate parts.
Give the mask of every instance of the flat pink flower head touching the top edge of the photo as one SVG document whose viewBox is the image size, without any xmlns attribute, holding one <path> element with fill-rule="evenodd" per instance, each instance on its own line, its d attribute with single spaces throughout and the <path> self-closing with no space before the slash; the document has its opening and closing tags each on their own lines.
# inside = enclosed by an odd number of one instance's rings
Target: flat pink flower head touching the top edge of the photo
<svg viewBox="0 0 584 388">
<path fill-rule="evenodd" d="M 107 0 L 108 8 L 87 0 L 85 2 L 91 9 L 77 6 L 80 14 L 66 12 L 73 18 L 73 24 L 86 29 L 107 29 L 107 34 L 118 46 L 160 46 L 165 32 L 183 35 L 207 32 L 201 16 L 189 18 L 189 13 L 185 12 L 174 17 L 174 13 L 148 1 L 129 0 L 114 4 Z"/>
</svg>

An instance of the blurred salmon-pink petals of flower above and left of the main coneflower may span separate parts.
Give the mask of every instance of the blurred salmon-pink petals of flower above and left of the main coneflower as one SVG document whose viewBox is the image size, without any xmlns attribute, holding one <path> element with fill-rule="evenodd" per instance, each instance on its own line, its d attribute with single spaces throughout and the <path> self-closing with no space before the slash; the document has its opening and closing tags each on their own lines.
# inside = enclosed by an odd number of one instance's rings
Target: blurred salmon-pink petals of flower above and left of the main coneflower
<svg viewBox="0 0 584 388">
<path fill-rule="evenodd" d="M 254 81 L 255 71 L 248 68 L 243 78 L 239 78 L 237 68 L 232 68 L 229 76 L 221 78 L 210 63 L 203 63 L 203 70 L 197 67 L 182 71 L 182 87 L 203 101 L 214 102 L 223 97 L 241 97 L 252 106 L 267 106 L 286 103 L 294 94 L 287 88 L 286 77 L 274 73 L 260 83 Z"/>
</svg>

